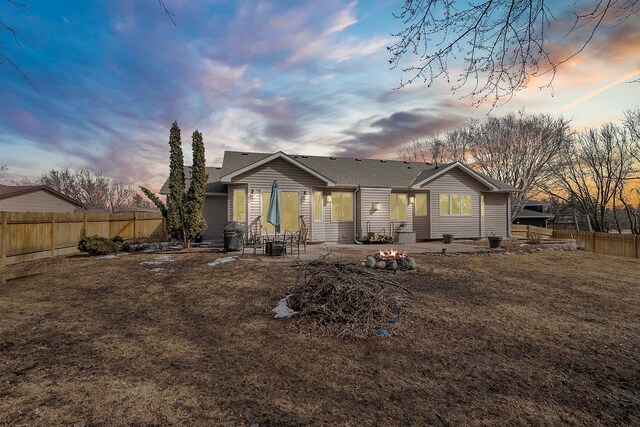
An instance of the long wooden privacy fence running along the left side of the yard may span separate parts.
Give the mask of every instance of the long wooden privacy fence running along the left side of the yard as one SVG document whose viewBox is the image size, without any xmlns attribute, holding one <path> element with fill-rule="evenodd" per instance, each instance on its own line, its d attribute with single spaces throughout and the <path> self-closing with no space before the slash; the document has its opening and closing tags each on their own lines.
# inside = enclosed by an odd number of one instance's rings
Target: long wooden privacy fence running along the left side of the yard
<svg viewBox="0 0 640 427">
<path fill-rule="evenodd" d="M 164 228 L 160 213 L 0 212 L 0 267 L 77 251 L 86 236 L 145 238 Z"/>
</svg>

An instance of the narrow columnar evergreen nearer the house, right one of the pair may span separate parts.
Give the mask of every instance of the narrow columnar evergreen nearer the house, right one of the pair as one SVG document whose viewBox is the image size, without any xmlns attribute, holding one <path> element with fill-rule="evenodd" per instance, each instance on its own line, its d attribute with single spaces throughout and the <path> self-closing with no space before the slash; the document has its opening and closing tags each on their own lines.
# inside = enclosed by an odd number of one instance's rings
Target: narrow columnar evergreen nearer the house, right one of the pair
<svg viewBox="0 0 640 427">
<path fill-rule="evenodd" d="M 209 175 L 205 168 L 204 142 L 202 133 L 197 130 L 192 135 L 193 166 L 191 168 L 191 183 L 185 200 L 185 224 L 187 240 L 192 241 L 207 228 L 204 220 L 204 199 L 207 191 Z"/>
</svg>

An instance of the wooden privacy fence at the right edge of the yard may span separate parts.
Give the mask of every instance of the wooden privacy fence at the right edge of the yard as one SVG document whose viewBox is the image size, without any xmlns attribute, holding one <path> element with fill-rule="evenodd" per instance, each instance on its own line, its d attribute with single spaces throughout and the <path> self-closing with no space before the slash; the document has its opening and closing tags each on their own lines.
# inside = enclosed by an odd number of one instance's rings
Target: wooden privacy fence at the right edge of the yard
<svg viewBox="0 0 640 427">
<path fill-rule="evenodd" d="M 576 239 L 578 247 L 598 254 L 640 258 L 640 238 L 633 234 L 554 230 L 553 237 Z"/>
</svg>

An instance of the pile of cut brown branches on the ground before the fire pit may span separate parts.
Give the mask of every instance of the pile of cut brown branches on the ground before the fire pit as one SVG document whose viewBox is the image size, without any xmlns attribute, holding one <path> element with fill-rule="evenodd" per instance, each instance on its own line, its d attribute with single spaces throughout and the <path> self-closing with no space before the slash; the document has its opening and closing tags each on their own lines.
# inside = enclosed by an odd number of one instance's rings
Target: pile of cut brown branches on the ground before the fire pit
<svg viewBox="0 0 640 427">
<path fill-rule="evenodd" d="M 300 264 L 287 305 L 340 334 L 367 335 L 398 319 L 400 293 L 411 293 L 388 272 L 323 258 Z"/>
</svg>

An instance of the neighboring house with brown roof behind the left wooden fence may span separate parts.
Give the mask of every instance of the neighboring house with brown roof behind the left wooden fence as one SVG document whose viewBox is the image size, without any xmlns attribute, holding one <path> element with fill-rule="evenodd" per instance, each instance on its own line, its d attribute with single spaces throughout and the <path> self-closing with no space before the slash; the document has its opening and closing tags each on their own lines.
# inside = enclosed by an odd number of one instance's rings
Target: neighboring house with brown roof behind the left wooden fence
<svg viewBox="0 0 640 427">
<path fill-rule="evenodd" d="M 75 212 L 82 204 L 46 185 L 0 185 L 0 211 Z"/>
</svg>

